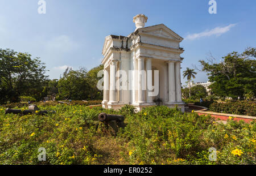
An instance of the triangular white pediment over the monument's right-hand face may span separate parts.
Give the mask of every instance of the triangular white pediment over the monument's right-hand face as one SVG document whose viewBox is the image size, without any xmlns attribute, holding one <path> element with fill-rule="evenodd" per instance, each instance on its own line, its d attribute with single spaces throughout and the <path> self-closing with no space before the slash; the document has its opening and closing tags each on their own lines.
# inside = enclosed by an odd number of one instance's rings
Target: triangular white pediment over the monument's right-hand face
<svg viewBox="0 0 256 176">
<path fill-rule="evenodd" d="M 170 28 L 166 27 L 164 24 L 152 25 L 150 27 L 139 28 L 138 32 L 144 35 L 151 35 L 156 37 L 163 37 L 166 39 L 182 41 L 183 38 L 177 35 Z"/>
</svg>

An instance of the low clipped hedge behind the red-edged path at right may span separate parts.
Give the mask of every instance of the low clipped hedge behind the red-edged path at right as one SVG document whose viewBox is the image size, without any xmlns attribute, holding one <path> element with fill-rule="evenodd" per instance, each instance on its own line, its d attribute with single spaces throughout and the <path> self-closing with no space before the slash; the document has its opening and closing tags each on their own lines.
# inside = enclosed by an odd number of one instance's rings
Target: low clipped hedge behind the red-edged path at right
<svg viewBox="0 0 256 176">
<path fill-rule="evenodd" d="M 256 104 L 254 101 L 214 102 L 209 106 L 209 110 L 217 113 L 256 116 Z"/>
</svg>

